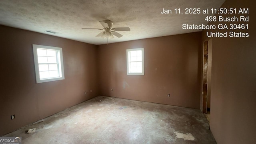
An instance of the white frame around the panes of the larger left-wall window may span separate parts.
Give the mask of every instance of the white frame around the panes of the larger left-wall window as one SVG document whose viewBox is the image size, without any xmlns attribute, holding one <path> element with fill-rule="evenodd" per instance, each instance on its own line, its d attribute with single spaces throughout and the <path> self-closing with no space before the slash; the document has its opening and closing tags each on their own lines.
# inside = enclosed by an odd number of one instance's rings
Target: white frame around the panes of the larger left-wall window
<svg viewBox="0 0 256 144">
<path fill-rule="evenodd" d="M 40 79 L 38 55 L 37 55 L 37 49 L 38 48 L 56 50 L 58 75 L 59 75 L 58 77 Z M 65 79 L 64 67 L 63 67 L 62 48 L 58 48 L 58 47 L 54 47 L 54 46 L 42 46 L 42 45 L 33 44 L 33 52 L 34 52 L 35 72 L 36 72 L 36 83 L 51 82 L 51 81 L 64 80 Z M 46 64 L 49 64 L 49 63 L 46 63 Z"/>
</svg>

